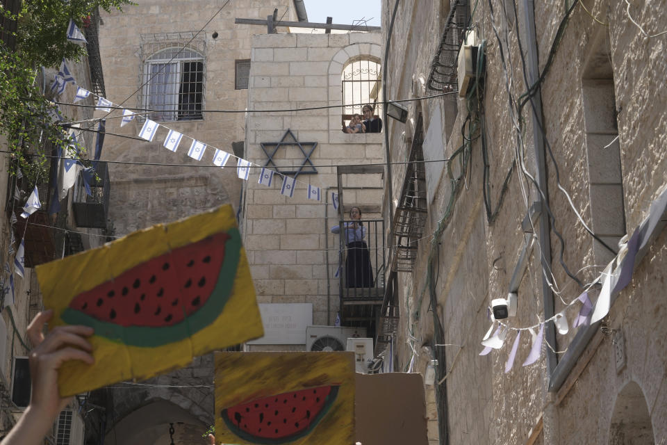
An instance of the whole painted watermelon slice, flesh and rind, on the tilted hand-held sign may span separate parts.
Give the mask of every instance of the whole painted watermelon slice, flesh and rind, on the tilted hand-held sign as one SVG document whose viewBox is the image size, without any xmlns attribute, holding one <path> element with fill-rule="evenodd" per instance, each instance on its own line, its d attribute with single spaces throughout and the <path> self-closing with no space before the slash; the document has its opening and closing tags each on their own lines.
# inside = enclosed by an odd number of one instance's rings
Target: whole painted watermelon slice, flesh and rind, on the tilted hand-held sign
<svg viewBox="0 0 667 445">
<path fill-rule="evenodd" d="M 185 339 L 222 312 L 240 248 L 238 229 L 176 248 L 80 293 L 61 317 L 132 346 Z"/>
</svg>

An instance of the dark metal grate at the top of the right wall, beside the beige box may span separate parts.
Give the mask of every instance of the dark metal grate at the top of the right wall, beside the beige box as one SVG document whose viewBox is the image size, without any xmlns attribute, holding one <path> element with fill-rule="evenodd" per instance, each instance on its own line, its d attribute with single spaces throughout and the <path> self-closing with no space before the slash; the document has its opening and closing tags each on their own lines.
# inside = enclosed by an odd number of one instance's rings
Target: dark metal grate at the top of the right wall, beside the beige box
<svg viewBox="0 0 667 445">
<path fill-rule="evenodd" d="M 431 63 L 431 73 L 427 81 L 430 92 L 456 91 L 459 66 L 459 48 L 463 41 L 463 32 L 468 26 L 468 0 L 453 0 L 443 36 Z M 445 96 L 456 100 L 454 95 Z"/>
</svg>

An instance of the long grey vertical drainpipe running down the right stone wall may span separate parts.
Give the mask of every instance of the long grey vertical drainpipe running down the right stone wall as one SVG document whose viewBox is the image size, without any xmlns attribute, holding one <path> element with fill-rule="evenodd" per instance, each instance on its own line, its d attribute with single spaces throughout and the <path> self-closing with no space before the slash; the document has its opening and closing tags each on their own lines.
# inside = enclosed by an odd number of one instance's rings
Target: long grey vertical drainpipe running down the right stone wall
<svg viewBox="0 0 667 445">
<path fill-rule="evenodd" d="M 539 78 L 539 59 L 537 54 L 537 39 L 535 35 L 535 5 L 534 0 L 523 0 L 525 26 L 528 35 L 528 80 L 531 85 L 534 85 Z M 549 204 L 549 189 L 547 188 L 547 168 L 545 162 L 545 144 L 544 135 L 540 128 L 545 128 L 542 117 L 542 93 L 541 88 L 537 88 L 536 93 L 530 98 L 533 106 L 531 107 L 534 119 L 533 124 L 533 142 L 535 151 L 535 164 L 537 170 L 537 182 L 540 185 L 542 194 L 538 194 L 538 200 L 545 209 Z M 548 268 L 551 267 L 551 225 L 549 221 L 549 213 L 542 211 L 540 213 L 540 230 L 538 239 L 540 241 L 540 248 L 542 254 L 542 261 Z M 554 294 L 551 291 L 549 282 L 544 274 L 542 276 L 542 301 L 544 307 L 544 318 L 551 318 L 554 316 Z M 556 327 L 554 323 L 546 323 L 544 326 L 544 337 L 547 343 L 556 350 Z M 551 348 L 547 350 L 547 373 L 551 380 L 551 375 L 558 364 L 556 354 Z"/>
</svg>

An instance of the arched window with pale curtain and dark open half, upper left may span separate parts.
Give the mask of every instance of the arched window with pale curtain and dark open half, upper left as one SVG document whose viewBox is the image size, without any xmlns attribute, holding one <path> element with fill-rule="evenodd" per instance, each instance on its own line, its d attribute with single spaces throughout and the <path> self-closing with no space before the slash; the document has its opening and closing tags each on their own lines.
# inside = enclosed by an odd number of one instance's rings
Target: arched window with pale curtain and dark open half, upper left
<svg viewBox="0 0 667 445">
<path fill-rule="evenodd" d="M 140 76 L 142 108 L 151 120 L 198 120 L 204 105 L 204 56 L 171 47 L 144 60 Z"/>
</svg>

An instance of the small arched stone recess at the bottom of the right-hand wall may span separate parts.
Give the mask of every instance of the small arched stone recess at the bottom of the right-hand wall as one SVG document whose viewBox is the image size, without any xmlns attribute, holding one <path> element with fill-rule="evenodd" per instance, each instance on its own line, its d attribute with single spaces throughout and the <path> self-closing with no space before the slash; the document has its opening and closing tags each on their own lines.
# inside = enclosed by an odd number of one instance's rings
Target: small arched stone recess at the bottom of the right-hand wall
<svg viewBox="0 0 667 445">
<path fill-rule="evenodd" d="M 649 445 L 654 443 L 651 416 L 643 391 L 636 382 L 628 382 L 616 397 L 609 426 L 609 444 Z"/>
</svg>

